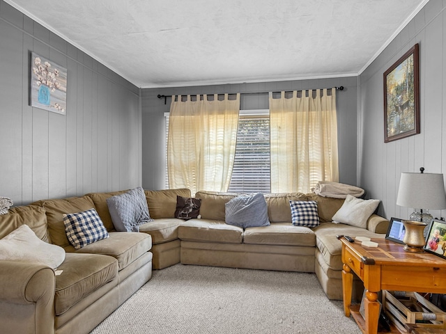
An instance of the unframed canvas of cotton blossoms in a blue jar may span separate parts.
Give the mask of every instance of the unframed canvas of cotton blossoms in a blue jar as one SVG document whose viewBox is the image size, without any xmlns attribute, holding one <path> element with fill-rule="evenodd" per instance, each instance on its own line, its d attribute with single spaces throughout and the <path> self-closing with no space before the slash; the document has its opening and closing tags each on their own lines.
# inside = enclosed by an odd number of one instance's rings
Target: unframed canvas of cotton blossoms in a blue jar
<svg viewBox="0 0 446 334">
<path fill-rule="evenodd" d="M 67 69 L 31 52 L 31 106 L 66 115 Z"/>
</svg>

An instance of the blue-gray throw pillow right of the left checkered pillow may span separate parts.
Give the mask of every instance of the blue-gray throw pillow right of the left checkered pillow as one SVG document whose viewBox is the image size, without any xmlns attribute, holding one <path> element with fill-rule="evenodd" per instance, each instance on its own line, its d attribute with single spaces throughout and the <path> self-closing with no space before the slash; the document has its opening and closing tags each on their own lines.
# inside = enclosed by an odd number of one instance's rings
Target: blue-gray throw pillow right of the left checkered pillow
<svg viewBox="0 0 446 334">
<path fill-rule="evenodd" d="M 140 186 L 107 198 L 114 228 L 121 232 L 139 232 L 139 225 L 153 221 L 148 213 L 146 194 Z"/>
</svg>

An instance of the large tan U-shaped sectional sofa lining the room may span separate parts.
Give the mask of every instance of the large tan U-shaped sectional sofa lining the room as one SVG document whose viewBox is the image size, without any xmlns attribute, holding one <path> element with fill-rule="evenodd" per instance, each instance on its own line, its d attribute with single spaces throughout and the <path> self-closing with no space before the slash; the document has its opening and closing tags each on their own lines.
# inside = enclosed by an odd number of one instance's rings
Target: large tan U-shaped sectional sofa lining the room
<svg viewBox="0 0 446 334">
<path fill-rule="evenodd" d="M 225 203 L 240 195 L 199 191 L 201 218 L 174 218 L 177 196 L 189 189 L 145 191 L 153 221 L 139 232 L 116 232 L 107 198 L 125 191 L 40 200 L 0 215 L 0 239 L 22 224 L 66 250 L 54 271 L 41 264 L 0 260 L 2 333 L 89 333 L 151 278 L 152 268 L 173 264 L 316 273 L 329 299 L 341 299 L 341 242 L 337 234 L 384 237 L 388 221 L 372 214 L 367 229 L 332 223 L 344 200 L 314 193 L 266 194 L 269 226 L 239 228 L 225 223 Z M 291 225 L 290 200 L 316 200 L 321 224 Z M 94 208 L 109 238 L 79 250 L 70 245 L 63 214 Z M 361 285 L 358 282 L 357 296 Z"/>
</svg>

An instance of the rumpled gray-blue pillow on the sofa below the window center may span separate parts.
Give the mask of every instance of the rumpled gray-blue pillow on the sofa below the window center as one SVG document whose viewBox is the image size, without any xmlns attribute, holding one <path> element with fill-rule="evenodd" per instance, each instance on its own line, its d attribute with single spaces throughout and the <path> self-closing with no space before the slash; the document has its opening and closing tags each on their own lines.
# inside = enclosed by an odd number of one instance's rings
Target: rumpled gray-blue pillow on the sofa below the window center
<svg viewBox="0 0 446 334">
<path fill-rule="evenodd" d="M 263 193 L 241 195 L 224 205 L 226 224 L 240 228 L 268 226 L 268 207 Z"/>
</svg>

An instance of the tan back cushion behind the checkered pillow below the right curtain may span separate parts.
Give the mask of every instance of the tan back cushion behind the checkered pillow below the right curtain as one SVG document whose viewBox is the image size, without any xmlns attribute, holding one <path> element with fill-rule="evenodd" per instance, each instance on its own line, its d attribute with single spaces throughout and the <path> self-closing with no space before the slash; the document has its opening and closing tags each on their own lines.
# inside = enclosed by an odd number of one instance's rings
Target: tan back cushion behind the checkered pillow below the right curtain
<svg viewBox="0 0 446 334">
<path fill-rule="evenodd" d="M 291 223 L 290 200 L 307 200 L 305 193 L 266 193 L 268 217 L 271 223 Z"/>
</svg>

